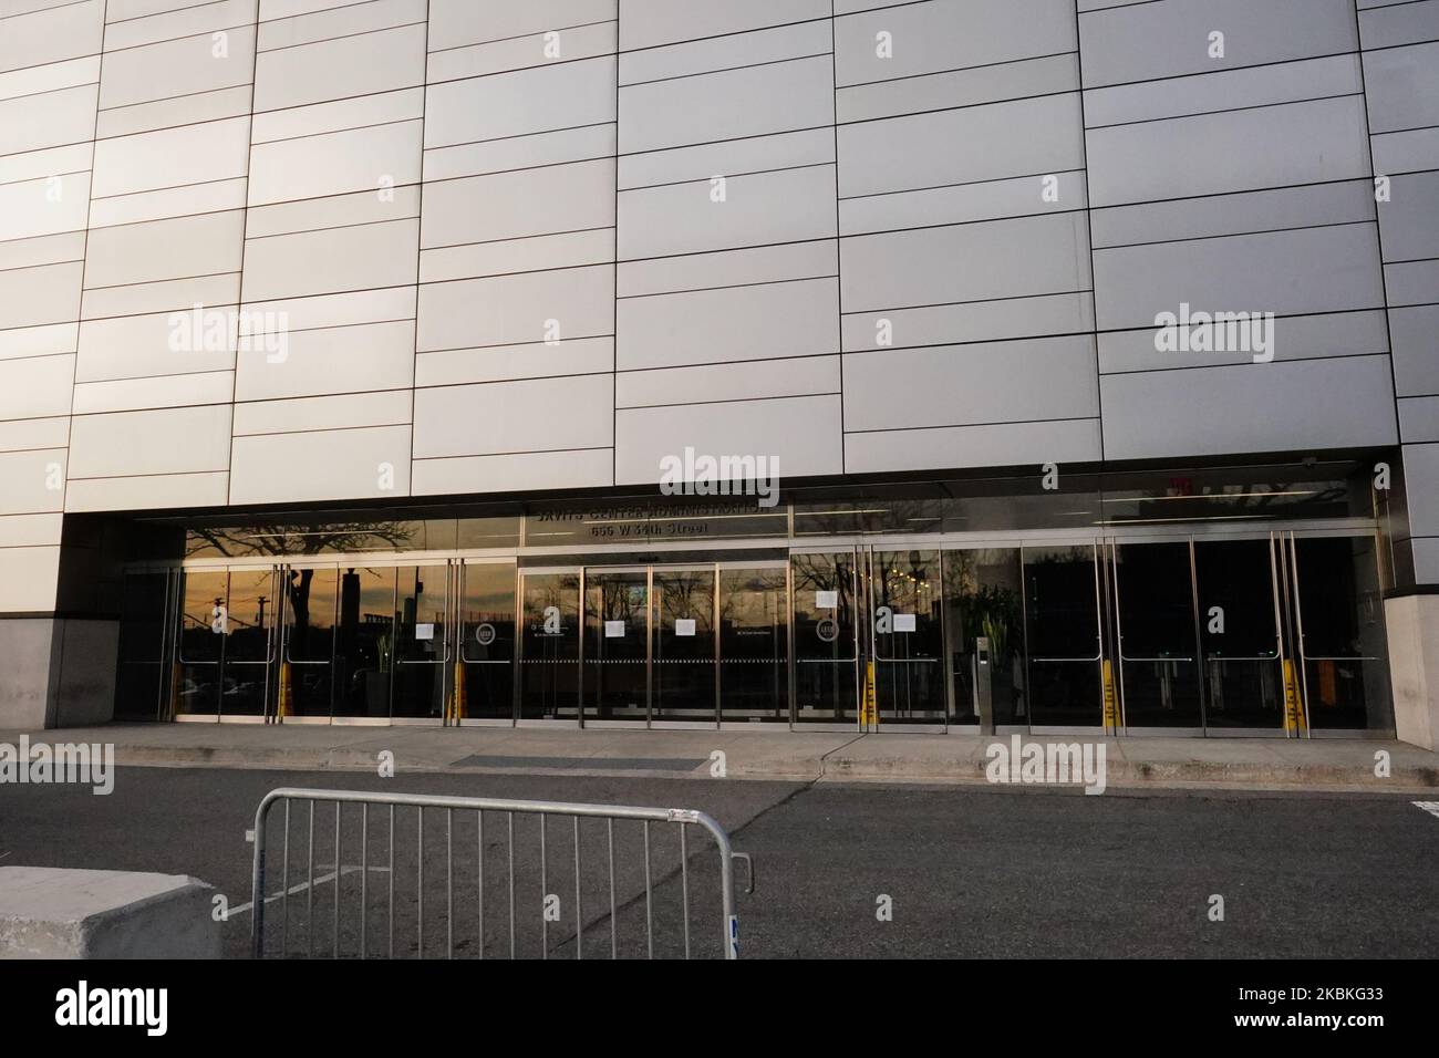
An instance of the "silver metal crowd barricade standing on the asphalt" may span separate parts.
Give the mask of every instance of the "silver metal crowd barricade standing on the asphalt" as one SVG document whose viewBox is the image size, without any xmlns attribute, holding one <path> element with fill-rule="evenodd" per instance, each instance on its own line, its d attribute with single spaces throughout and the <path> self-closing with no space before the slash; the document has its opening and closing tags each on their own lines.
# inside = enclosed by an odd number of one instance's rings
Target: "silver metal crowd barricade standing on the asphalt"
<svg viewBox="0 0 1439 1058">
<path fill-rule="evenodd" d="M 281 888 L 279 892 L 266 894 L 266 831 L 269 823 L 271 810 L 283 802 L 283 867 L 281 871 Z M 307 820 L 301 819 L 301 838 L 305 846 L 301 852 L 301 862 L 305 867 L 305 881 L 292 885 L 289 877 L 291 868 L 291 809 L 294 805 L 308 805 L 308 826 Z M 318 880 L 315 877 L 315 808 L 317 805 L 334 805 L 334 865 L 332 872 L 328 875 L 321 875 Z M 754 865 L 747 854 L 734 852 L 730 846 L 730 836 L 724 829 L 704 812 L 695 812 L 691 809 L 663 809 L 663 808 L 633 808 L 623 805 L 580 805 L 568 802 L 543 802 L 543 800 L 507 800 L 507 799 L 492 799 L 492 797 L 450 797 L 450 796 L 430 796 L 430 795 L 413 795 L 413 793 L 371 793 L 363 790 L 307 790 L 307 789 L 278 789 L 271 790 L 265 795 L 260 802 L 259 809 L 255 812 L 255 862 L 252 872 L 252 908 L 253 918 L 250 926 L 250 951 L 256 959 L 266 957 L 266 905 L 279 903 L 282 915 L 282 934 L 281 934 L 281 956 L 291 956 L 289 951 L 289 924 L 291 924 L 291 897 L 298 895 L 304 891 L 305 901 L 305 957 L 312 957 L 315 954 L 315 892 L 318 885 L 328 885 L 334 882 L 332 894 L 332 937 L 331 937 L 331 954 L 334 957 L 341 956 L 341 918 L 344 911 L 342 900 L 342 882 L 347 872 L 342 851 L 342 836 L 341 823 L 344 816 L 345 805 L 360 806 L 360 862 L 358 865 L 348 868 L 355 869 L 360 874 L 360 903 L 358 903 L 358 956 L 361 959 L 370 957 L 370 874 L 371 871 L 380 871 L 387 874 L 386 885 L 386 928 L 389 930 L 389 940 L 386 951 L 389 957 L 394 957 L 394 936 L 396 936 L 396 810 L 413 808 L 417 844 L 416 849 L 416 949 L 420 957 L 425 957 L 425 878 L 426 878 L 426 851 L 425 851 L 425 812 L 426 809 L 443 809 L 445 812 L 445 949 L 446 957 L 455 957 L 455 921 L 456 921 L 456 903 L 455 903 L 455 813 L 456 812 L 472 812 L 475 813 L 475 848 L 476 856 L 472 861 L 476 867 L 476 911 L 478 911 L 478 956 L 485 957 L 485 822 L 486 813 L 495 813 L 502 818 L 504 835 L 508 841 L 508 924 L 509 924 L 509 956 L 517 954 L 517 917 L 515 917 L 515 818 L 532 816 L 538 818 L 538 836 L 540 836 L 540 888 L 543 891 L 543 901 L 545 907 L 540 914 L 540 957 L 548 957 L 550 946 L 550 915 L 548 904 L 550 901 L 557 901 L 557 897 L 550 894 L 550 855 L 547 849 L 547 823 L 553 818 L 570 818 L 573 819 L 573 844 L 574 844 L 574 947 L 576 956 L 584 957 L 584 900 L 583 900 L 583 862 L 581 862 L 581 833 L 580 822 L 581 819 L 603 819 L 604 820 L 604 838 L 609 856 L 609 914 L 602 915 L 597 921 L 603 923 L 604 917 L 609 918 L 610 926 L 610 957 L 619 957 L 619 913 L 620 905 L 617 904 L 616 894 L 616 858 L 614 858 L 614 823 L 619 820 L 636 820 L 643 828 L 643 895 L 645 895 L 645 940 L 646 953 L 650 959 L 655 957 L 655 878 L 650 864 L 650 823 L 669 823 L 679 828 L 679 865 L 678 865 L 678 880 L 679 880 L 679 894 L 681 894 L 681 914 L 684 923 L 684 954 L 685 959 L 691 957 L 691 934 L 689 934 L 689 842 L 688 832 L 691 828 L 698 826 L 708 831 L 714 838 L 715 846 L 720 852 L 720 895 L 721 895 L 721 944 L 725 959 L 740 957 L 740 923 L 735 913 L 735 894 L 734 894 L 734 861 L 743 859 L 747 867 L 747 892 L 754 891 Z M 389 855 L 383 865 L 371 867 L 371 851 L 370 851 L 370 808 L 376 806 L 389 810 Z M 383 825 L 383 819 L 381 819 Z M 435 868 L 432 867 L 432 871 Z M 433 875 L 432 875 L 433 877 Z M 463 941 L 462 941 L 463 943 Z"/>
</svg>

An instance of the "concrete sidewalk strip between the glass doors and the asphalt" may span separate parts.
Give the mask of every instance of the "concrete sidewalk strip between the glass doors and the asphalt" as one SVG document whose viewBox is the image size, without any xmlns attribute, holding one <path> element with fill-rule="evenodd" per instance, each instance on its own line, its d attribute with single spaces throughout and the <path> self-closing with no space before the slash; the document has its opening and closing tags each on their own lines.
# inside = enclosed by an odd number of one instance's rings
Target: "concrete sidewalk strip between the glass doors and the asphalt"
<svg viewBox="0 0 1439 1058">
<path fill-rule="evenodd" d="M 787 782 L 989 786 L 987 750 L 1006 736 L 820 734 L 558 728 L 111 724 L 0 731 L 0 743 L 112 743 L 121 766 L 370 772 L 380 753 L 397 773 L 590 774 Z M 1026 744 L 1081 743 L 1076 736 Z M 1439 754 L 1396 741 L 1284 738 L 1107 738 L 1109 789 L 1439 792 Z M 1376 777 L 1376 753 L 1390 776 Z"/>
</svg>

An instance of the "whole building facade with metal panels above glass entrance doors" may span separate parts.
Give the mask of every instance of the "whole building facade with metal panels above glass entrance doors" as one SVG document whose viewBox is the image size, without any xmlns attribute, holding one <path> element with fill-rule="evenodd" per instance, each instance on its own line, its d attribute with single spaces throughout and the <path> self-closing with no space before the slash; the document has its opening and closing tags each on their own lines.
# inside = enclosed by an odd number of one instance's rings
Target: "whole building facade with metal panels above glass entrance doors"
<svg viewBox="0 0 1439 1058">
<path fill-rule="evenodd" d="M 1439 737 L 1439 0 L 0 0 L 0 727 Z"/>
</svg>

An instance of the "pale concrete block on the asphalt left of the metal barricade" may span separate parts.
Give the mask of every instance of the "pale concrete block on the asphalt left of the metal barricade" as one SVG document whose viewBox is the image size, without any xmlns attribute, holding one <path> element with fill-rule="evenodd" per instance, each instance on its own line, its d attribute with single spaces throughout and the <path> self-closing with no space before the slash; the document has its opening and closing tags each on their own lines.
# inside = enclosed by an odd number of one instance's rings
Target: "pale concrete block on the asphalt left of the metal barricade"
<svg viewBox="0 0 1439 1058">
<path fill-rule="evenodd" d="M 0 867 L 0 959 L 219 959 L 213 891 L 177 874 Z"/>
</svg>

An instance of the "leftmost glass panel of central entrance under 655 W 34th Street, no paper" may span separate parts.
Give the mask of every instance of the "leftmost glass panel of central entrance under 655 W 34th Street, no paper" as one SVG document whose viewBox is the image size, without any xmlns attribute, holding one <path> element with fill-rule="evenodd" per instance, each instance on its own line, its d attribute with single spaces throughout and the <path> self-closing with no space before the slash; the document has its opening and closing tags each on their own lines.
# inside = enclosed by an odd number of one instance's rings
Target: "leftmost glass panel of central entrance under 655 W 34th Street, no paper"
<svg viewBox="0 0 1439 1058">
<path fill-rule="evenodd" d="M 518 721 L 580 715 L 580 571 L 519 574 Z"/>
</svg>

